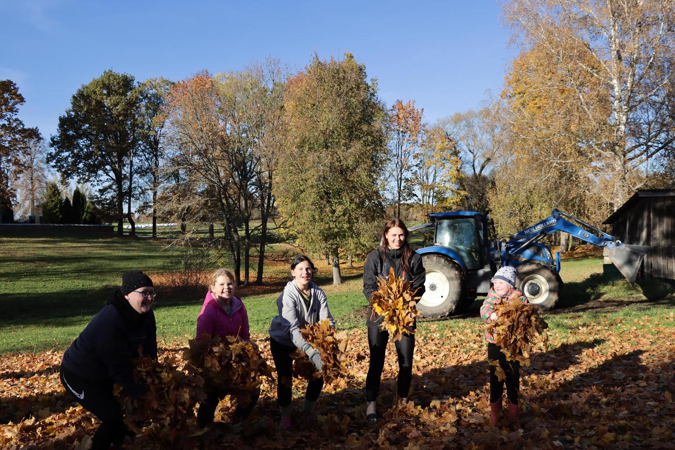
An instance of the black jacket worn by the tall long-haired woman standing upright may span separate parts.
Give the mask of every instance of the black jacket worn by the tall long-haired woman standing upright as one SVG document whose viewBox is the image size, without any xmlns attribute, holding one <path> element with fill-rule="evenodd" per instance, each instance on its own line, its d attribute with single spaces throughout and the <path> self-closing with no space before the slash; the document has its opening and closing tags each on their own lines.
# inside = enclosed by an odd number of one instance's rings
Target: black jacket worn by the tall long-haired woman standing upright
<svg viewBox="0 0 675 450">
<path fill-rule="evenodd" d="M 384 258 L 381 258 L 379 248 L 376 248 L 368 254 L 366 263 L 363 264 L 363 295 L 366 296 L 370 302 L 373 297 L 373 292 L 377 291 L 377 279 L 385 279 L 389 276 L 389 269 L 394 268 L 394 275 L 401 277 L 404 275 L 405 279 L 412 281 L 412 290 L 418 289 L 416 295 L 423 296 L 425 293 L 425 269 L 422 265 L 422 256 L 417 252 L 412 252 L 410 255 L 410 271 L 403 270 L 403 262 L 401 260 L 401 250 L 388 249 L 385 252 Z M 372 308 L 368 312 L 368 325 L 379 324 L 382 318 Z"/>
</svg>

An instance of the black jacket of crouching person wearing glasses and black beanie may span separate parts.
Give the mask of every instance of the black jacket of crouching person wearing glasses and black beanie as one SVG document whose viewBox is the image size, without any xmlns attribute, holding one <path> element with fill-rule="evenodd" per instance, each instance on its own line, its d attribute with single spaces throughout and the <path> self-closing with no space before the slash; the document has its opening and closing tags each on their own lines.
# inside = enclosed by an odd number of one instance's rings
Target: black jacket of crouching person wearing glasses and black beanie
<svg viewBox="0 0 675 450">
<path fill-rule="evenodd" d="M 144 388 L 134 381 L 132 359 L 139 357 L 139 347 L 143 355 L 157 359 L 155 314 L 139 314 L 115 291 L 65 351 L 61 367 L 90 383 L 114 381 L 138 397 Z"/>
</svg>

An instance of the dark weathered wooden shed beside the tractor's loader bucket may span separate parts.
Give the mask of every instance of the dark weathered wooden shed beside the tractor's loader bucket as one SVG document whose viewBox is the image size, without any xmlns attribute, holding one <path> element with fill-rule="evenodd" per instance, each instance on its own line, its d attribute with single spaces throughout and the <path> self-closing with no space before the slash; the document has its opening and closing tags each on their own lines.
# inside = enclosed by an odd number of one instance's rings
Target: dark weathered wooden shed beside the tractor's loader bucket
<svg viewBox="0 0 675 450">
<path fill-rule="evenodd" d="M 603 223 L 624 244 L 653 248 L 645 277 L 675 280 L 675 190 L 639 190 Z"/>
</svg>

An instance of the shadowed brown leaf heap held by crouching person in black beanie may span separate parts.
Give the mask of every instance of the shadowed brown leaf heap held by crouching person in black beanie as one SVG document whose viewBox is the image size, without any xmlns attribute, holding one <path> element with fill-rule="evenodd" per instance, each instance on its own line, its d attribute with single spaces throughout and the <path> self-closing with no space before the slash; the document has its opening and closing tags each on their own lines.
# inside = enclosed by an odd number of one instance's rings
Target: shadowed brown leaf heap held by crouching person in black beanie
<svg viewBox="0 0 675 450">
<path fill-rule="evenodd" d="M 120 386 L 115 390 L 126 413 L 124 422 L 137 435 L 133 446 L 194 447 L 198 442 L 193 436 L 198 432 L 194 405 L 206 398 L 204 380 L 178 370 L 178 360 L 171 356 L 161 362 L 140 358 L 134 363 L 134 378 L 147 391 L 140 399 L 132 399 Z"/>
</svg>

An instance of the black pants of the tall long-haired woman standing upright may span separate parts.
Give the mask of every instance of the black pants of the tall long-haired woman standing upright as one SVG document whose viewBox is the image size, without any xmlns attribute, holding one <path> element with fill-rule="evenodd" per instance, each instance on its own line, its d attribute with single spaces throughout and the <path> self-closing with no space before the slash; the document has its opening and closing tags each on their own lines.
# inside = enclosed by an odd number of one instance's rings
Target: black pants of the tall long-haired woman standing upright
<svg viewBox="0 0 675 450">
<path fill-rule="evenodd" d="M 380 378 L 384 368 L 384 357 L 389 341 L 389 332 L 379 329 L 377 323 L 368 325 L 368 346 L 371 349 L 371 362 L 366 377 L 366 399 L 375 401 L 379 393 Z M 398 396 L 408 397 L 410 382 L 412 381 L 412 352 L 415 349 L 414 333 L 404 333 L 396 345 L 398 355 Z"/>
</svg>

